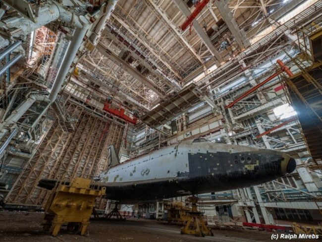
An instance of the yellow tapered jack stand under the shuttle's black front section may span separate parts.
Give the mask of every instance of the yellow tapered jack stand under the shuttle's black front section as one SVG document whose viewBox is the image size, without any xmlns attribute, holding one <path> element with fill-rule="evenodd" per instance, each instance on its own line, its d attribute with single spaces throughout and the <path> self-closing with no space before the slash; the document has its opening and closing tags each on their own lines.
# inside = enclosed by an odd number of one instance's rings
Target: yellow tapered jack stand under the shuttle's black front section
<svg viewBox="0 0 322 242">
<path fill-rule="evenodd" d="M 188 221 L 185 227 L 181 228 L 181 234 L 194 235 L 198 237 L 214 236 L 210 228 L 208 228 L 203 219 L 203 213 L 197 209 L 198 197 L 191 196 L 187 198 L 192 205 L 191 211 L 187 212 Z"/>
</svg>

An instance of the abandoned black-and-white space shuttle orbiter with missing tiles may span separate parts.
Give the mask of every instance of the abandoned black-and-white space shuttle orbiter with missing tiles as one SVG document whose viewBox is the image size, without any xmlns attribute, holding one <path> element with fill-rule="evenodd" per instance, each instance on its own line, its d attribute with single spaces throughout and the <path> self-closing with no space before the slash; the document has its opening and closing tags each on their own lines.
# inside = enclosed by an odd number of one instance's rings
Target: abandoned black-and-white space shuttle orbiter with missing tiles
<svg viewBox="0 0 322 242">
<path fill-rule="evenodd" d="M 183 141 L 112 166 L 95 178 L 106 187 L 106 198 L 122 203 L 155 201 L 183 195 L 258 185 L 295 170 L 286 153 L 256 147 L 217 144 L 204 138 Z M 53 188 L 42 179 L 39 186 Z"/>
</svg>

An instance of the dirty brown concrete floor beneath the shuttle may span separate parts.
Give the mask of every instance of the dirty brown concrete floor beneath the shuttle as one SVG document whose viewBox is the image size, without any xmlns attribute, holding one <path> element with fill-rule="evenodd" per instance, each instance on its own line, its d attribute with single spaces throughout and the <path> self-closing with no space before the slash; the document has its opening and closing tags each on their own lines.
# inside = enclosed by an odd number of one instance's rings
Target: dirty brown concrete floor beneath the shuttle
<svg viewBox="0 0 322 242">
<path fill-rule="evenodd" d="M 43 213 L 0 212 L 1 242 L 259 242 L 271 241 L 266 231 L 213 230 L 214 237 L 180 235 L 180 226 L 153 220 L 92 221 L 86 236 L 62 230 L 52 237 L 42 230 Z M 304 241 L 304 240 L 292 240 Z M 306 240 L 307 241 L 307 240 Z"/>
</svg>

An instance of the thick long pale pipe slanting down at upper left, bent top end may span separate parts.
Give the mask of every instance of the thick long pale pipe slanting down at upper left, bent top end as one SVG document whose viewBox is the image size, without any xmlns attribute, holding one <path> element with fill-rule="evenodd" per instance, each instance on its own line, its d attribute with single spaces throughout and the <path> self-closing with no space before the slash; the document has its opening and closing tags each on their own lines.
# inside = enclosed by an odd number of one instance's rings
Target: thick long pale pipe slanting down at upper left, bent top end
<svg viewBox="0 0 322 242">
<path fill-rule="evenodd" d="M 56 79 L 54 81 L 54 85 L 52 88 L 52 92 L 49 96 L 49 99 L 53 103 L 60 91 L 61 85 L 65 80 L 65 77 L 70 69 L 70 65 L 72 64 L 79 47 L 83 42 L 83 38 L 90 27 L 90 22 L 84 16 L 80 16 L 79 20 L 82 23 L 82 28 L 76 27 L 74 34 L 72 36 L 72 40 L 70 41 L 67 51 L 65 53 L 64 59 L 60 64 L 58 73 L 56 75 Z"/>
</svg>

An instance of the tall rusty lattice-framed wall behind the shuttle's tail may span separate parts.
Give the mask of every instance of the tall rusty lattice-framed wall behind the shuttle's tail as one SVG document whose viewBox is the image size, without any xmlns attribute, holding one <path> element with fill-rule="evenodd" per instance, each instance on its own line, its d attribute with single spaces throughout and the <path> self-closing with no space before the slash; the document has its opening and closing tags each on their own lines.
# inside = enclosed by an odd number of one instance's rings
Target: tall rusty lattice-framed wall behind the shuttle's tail
<svg viewBox="0 0 322 242">
<path fill-rule="evenodd" d="M 124 126 L 104 121 L 73 103 L 67 110 L 79 120 L 76 130 L 64 132 L 54 123 L 14 183 L 7 203 L 44 205 L 48 191 L 37 187 L 40 179 L 92 179 L 107 168 L 107 147 L 113 144 L 119 149 Z"/>
</svg>

